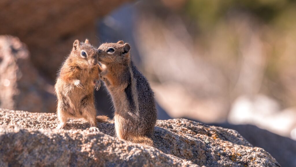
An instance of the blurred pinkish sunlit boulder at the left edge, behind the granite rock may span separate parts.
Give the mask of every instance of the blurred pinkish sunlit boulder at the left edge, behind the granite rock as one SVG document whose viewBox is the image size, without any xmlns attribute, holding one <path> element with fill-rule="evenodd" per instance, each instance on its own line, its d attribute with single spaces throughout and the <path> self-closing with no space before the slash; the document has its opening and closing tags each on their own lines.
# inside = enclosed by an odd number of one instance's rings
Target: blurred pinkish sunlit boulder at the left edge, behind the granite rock
<svg viewBox="0 0 296 167">
<path fill-rule="evenodd" d="M 17 37 L 0 36 L 0 107 L 32 112 L 54 112 L 53 87 L 30 62 Z"/>
</svg>

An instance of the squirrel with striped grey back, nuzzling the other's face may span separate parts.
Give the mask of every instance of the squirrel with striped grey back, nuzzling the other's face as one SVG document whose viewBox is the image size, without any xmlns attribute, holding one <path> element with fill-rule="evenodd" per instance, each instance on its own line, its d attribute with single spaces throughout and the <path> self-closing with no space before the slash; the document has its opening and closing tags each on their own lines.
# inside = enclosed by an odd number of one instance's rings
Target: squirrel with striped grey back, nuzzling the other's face
<svg viewBox="0 0 296 167">
<path fill-rule="evenodd" d="M 151 139 L 157 119 L 155 98 L 144 75 L 133 64 L 131 46 L 123 41 L 104 43 L 98 60 L 115 107 L 115 130 L 120 139 L 153 146 Z"/>
</svg>

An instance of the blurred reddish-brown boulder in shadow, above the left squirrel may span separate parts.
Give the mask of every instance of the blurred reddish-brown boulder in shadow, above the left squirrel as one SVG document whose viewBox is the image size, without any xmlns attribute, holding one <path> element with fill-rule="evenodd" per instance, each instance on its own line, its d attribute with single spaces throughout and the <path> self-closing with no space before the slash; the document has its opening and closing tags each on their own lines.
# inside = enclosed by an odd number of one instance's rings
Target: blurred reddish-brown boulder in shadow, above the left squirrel
<svg viewBox="0 0 296 167">
<path fill-rule="evenodd" d="M 98 44 L 95 21 L 131 0 L 4 0 L 0 2 L 0 34 L 28 45 L 32 62 L 52 80 L 75 39 Z"/>
</svg>

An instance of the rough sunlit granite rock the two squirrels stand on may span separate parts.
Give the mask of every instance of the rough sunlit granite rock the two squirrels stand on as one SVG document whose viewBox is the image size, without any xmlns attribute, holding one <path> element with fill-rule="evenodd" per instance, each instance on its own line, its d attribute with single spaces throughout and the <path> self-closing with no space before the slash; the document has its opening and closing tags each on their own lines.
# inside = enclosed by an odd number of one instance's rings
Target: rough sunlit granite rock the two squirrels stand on
<svg viewBox="0 0 296 167">
<path fill-rule="evenodd" d="M 158 120 L 155 147 L 115 138 L 112 120 L 101 132 L 83 120 L 57 124 L 55 114 L 0 109 L 0 166 L 280 166 L 235 130 L 187 119 Z"/>
</svg>

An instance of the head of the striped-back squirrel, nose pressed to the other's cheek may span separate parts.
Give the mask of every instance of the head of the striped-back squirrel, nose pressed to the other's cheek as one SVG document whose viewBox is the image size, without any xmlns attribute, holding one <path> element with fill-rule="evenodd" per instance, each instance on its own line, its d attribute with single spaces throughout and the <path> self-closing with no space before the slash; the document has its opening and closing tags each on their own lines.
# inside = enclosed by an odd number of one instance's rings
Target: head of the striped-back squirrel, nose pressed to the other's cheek
<svg viewBox="0 0 296 167">
<path fill-rule="evenodd" d="M 123 41 L 117 43 L 103 43 L 98 48 L 98 60 L 102 64 L 109 63 L 128 63 L 131 46 Z"/>
</svg>

